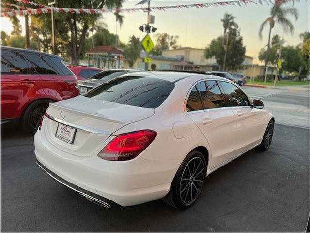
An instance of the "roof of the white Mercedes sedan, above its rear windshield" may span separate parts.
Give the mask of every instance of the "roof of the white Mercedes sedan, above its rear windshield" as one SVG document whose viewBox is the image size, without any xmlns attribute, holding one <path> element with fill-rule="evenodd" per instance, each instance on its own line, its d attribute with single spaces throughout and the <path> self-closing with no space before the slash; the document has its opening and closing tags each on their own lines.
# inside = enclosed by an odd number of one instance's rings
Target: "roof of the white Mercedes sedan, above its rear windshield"
<svg viewBox="0 0 310 233">
<path fill-rule="evenodd" d="M 142 72 L 139 72 L 138 71 L 138 72 L 124 74 L 122 75 L 122 77 L 132 76 L 132 75 L 141 76 L 141 77 L 153 77 L 157 79 L 167 80 L 172 83 L 175 83 L 184 78 L 193 77 L 193 76 L 197 76 L 203 79 L 209 79 L 209 78 L 212 79 L 216 77 L 217 79 L 227 80 L 226 78 L 215 76 L 215 75 L 208 75 L 208 74 L 202 74 L 202 73 L 179 72 L 179 71 L 178 72 L 174 72 L 174 71 L 142 71 Z"/>
</svg>

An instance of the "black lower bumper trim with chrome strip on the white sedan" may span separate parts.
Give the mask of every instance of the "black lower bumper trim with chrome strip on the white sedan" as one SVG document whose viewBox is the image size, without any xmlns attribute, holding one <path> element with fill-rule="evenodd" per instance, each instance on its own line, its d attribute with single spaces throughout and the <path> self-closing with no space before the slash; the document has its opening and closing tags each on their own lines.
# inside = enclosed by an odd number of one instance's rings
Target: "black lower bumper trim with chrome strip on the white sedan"
<svg viewBox="0 0 310 233">
<path fill-rule="evenodd" d="M 59 183 L 63 184 L 64 186 L 71 188 L 72 190 L 78 192 L 78 194 L 82 195 L 84 198 L 86 198 L 87 200 L 90 200 L 98 205 L 101 205 L 105 208 L 111 208 L 111 207 L 119 207 L 120 205 L 109 200 L 106 199 L 104 197 L 101 197 L 95 193 L 89 192 L 83 188 L 78 187 L 77 185 L 70 183 L 64 179 L 62 179 L 61 177 L 59 177 L 57 174 L 55 174 L 54 172 L 52 172 L 51 170 L 47 169 L 47 167 L 45 167 L 43 164 L 40 163 L 40 161 L 36 160 L 37 165 L 42 168 L 42 170 L 44 170 L 47 175 L 49 175 L 51 178 L 53 178 L 54 180 L 58 181 Z"/>
</svg>

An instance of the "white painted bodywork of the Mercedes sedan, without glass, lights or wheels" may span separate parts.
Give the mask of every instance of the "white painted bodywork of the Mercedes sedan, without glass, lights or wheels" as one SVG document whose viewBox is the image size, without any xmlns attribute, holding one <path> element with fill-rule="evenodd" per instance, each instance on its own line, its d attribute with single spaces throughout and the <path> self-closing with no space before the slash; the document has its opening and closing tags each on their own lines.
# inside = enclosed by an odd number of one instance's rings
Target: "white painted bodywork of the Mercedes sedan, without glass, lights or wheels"
<svg viewBox="0 0 310 233">
<path fill-rule="evenodd" d="M 207 174 L 260 144 L 268 122 L 268 111 L 251 107 L 229 107 L 186 113 L 189 90 L 199 80 L 217 79 L 189 73 L 149 73 L 175 82 L 168 98 L 156 109 L 92 100 L 79 96 L 52 104 L 47 113 L 56 121 L 77 127 L 72 145 L 54 137 L 57 122 L 44 117 L 34 137 L 37 160 L 62 179 L 112 200 L 121 206 L 163 198 L 185 159 L 196 147 L 208 150 Z M 158 77 L 159 76 L 159 77 Z M 58 119 L 60 111 L 66 115 Z M 238 116 L 237 112 L 243 112 Z M 212 119 L 202 124 L 203 119 Z M 155 140 L 129 161 L 106 161 L 97 156 L 115 135 L 150 129 Z"/>
</svg>

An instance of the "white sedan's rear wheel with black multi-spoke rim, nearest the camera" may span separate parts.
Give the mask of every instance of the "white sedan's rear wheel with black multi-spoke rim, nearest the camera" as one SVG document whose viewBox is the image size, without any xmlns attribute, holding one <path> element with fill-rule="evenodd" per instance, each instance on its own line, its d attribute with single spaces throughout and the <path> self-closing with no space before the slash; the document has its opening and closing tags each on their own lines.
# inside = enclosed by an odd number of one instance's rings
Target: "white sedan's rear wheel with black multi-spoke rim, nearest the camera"
<svg viewBox="0 0 310 233">
<path fill-rule="evenodd" d="M 191 207 L 202 192 L 206 167 L 201 152 L 190 152 L 174 176 L 169 193 L 162 200 L 177 209 Z"/>
</svg>

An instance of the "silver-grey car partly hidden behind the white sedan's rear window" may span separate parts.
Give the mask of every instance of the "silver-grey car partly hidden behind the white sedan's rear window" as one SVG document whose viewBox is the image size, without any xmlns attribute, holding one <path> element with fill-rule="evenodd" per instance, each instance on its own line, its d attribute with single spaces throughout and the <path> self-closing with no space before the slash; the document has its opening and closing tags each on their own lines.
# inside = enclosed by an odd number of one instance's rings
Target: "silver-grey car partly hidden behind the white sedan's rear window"
<svg viewBox="0 0 310 233">
<path fill-rule="evenodd" d="M 133 72 L 141 72 L 141 70 L 139 69 L 110 69 L 110 70 L 102 71 L 100 73 L 93 75 L 89 79 L 78 81 L 78 89 L 81 94 L 84 94 L 85 92 L 93 89 L 94 87 L 102 83 L 105 83 L 115 77 L 118 77 L 118 76 L 121 76 L 127 73 L 133 73 Z"/>
</svg>

